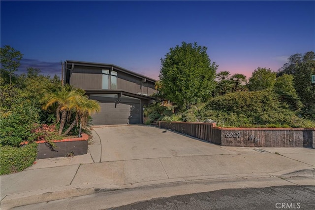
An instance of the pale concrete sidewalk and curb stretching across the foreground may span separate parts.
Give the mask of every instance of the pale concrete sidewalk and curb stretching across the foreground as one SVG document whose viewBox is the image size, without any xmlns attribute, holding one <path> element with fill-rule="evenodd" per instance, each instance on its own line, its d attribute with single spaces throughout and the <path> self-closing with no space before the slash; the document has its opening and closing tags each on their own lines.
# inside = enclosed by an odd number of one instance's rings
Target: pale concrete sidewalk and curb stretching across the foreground
<svg viewBox="0 0 315 210">
<path fill-rule="evenodd" d="M 95 131 L 93 137 L 86 155 L 36 160 L 23 172 L 1 175 L 1 209 L 106 190 L 200 180 L 306 176 L 297 184 L 315 185 L 315 150 L 311 148 L 213 145 L 225 152 L 100 162 L 101 141 Z"/>
</svg>

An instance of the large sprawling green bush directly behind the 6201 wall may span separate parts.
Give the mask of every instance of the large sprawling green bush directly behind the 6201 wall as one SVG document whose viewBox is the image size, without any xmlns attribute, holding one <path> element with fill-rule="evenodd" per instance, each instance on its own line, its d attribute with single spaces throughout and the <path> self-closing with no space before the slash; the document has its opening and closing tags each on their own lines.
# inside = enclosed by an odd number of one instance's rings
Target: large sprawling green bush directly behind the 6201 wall
<svg viewBox="0 0 315 210">
<path fill-rule="evenodd" d="M 297 117 L 270 91 L 217 96 L 195 112 L 199 120 L 211 118 L 221 127 L 315 127 L 314 122 Z"/>
</svg>

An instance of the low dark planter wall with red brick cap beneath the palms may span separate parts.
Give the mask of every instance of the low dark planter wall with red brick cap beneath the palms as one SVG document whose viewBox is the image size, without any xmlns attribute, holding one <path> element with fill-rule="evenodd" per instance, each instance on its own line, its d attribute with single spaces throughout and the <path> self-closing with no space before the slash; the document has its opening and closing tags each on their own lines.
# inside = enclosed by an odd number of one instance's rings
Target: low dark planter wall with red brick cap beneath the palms
<svg viewBox="0 0 315 210">
<path fill-rule="evenodd" d="M 55 144 L 55 147 L 52 147 L 45 140 L 36 141 L 36 143 L 38 143 L 36 159 L 87 154 L 88 138 L 89 136 L 87 134 L 82 134 L 81 138 L 53 140 L 52 142 Z M 27 143 L 28 142 L 23 142 L 22 144 Z"/>
</svg>

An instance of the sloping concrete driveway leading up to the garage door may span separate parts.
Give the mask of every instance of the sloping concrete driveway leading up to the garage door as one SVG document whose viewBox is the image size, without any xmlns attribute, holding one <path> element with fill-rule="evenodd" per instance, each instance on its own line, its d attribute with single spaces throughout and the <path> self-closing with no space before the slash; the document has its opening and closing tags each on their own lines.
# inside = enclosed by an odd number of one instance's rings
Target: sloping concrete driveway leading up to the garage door
<svg viewBox="0 0 315 210">
<path fill-rule="evenodd" d="M 236 154 L 218 145 L 157 127 L 127 125 L 94 130 L 101 139 L 101 162 Z"/>
</svg>

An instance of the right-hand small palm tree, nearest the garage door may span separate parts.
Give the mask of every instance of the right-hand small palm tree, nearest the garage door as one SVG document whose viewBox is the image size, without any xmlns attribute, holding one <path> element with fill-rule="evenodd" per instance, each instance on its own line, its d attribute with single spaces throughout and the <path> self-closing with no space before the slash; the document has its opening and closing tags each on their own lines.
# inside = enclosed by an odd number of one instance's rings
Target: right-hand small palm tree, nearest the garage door
<svg viewBox="0 0 315 210">
<path fill-rule="evenodd" d="M 81 137 L 81 128 L 84 128 L 88 123 L 89 116 L 100 110 L 98 102 L 89 99 L 86 95 L 74 97 L 68 102 L 66 108 L 75 113 L 75 119 L 72 121 L 69 128 L 64 132 L 64 135 L 67 135 L 75 124 L 78 125 L 80 122 L 79 137 Z"/>
</svg>

